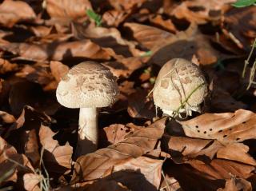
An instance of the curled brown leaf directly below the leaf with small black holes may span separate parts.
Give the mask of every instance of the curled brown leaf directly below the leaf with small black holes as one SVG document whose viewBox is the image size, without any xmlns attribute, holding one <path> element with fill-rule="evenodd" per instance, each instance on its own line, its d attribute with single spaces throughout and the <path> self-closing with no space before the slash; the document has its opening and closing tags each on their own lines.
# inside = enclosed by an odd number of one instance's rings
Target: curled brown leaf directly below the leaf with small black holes
<svg viewBox="0 0 256 191">
<path fill-rule="evenodd" d="M 247 153 L 249 147 L 242 143 L 223 145 L 216 140 L 164 136 L 162 147 L 167 153 L 170 153 L 177 164 L 199 156 L 206 156 L 211 160 L 216 156 L 217 158 L 242 162 L 246 165 L 256 165 L 254 158 Z"/>
</svg>

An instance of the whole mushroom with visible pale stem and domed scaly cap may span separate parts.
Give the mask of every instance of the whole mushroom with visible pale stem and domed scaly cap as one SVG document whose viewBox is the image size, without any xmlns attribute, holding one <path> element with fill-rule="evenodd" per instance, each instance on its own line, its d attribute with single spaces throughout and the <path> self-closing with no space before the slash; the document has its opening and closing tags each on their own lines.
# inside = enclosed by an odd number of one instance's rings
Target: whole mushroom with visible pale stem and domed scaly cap
<svg viewBox="0 0 256 191">
<path fill-rule="evenodd" d="M 97 108 L 112 105 L 118 94 L 116 78 L 97 62 L 82 62 L 74 66 L 58 83 L 58 102 L 67 108 L 80 109 L 77 157 L 97 149 Z"/>
</svg>

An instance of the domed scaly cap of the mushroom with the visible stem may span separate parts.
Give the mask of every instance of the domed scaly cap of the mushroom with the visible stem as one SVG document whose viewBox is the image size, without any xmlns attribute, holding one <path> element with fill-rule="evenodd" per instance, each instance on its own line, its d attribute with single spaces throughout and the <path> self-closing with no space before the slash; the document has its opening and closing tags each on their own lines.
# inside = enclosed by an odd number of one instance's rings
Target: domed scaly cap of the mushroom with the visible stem
<svg viewBox="0 0 256 191">
<path fill-rule="evenodd" d="M 56 97 L 67 108 L 106 107 L 119 94 L 116 78 L 97 62 L 81 62 L 58 83 Z"/>
</svg>

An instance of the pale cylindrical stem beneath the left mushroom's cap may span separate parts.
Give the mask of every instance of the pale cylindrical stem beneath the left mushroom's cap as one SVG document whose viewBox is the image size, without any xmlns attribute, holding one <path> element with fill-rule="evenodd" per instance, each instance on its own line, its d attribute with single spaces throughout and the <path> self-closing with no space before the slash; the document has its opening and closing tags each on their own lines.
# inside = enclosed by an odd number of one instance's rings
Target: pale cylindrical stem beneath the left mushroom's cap
<svg viewBox="0 0 256 191">
<path fill-rule="evenodd" d="M 96 107 L 80 108 L 77 157 L 93 153 L 98 146 L 98 112 Z"/>
</svg>

